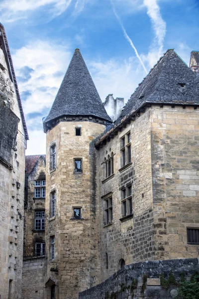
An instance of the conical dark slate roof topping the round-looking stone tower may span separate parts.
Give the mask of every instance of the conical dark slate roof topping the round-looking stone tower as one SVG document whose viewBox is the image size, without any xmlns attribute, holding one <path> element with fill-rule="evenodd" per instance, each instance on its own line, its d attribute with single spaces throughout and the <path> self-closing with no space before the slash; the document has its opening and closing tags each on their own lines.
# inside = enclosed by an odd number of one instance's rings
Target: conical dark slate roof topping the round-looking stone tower
<svg viewBox="0 0 199 299">
<path fill-rule="evenodd" d="M 96 116 L 112 122 L 103 107 L 79 49 L 75 49 L 44 125 L 53 119 L 67 115 Z"/>
</svg>

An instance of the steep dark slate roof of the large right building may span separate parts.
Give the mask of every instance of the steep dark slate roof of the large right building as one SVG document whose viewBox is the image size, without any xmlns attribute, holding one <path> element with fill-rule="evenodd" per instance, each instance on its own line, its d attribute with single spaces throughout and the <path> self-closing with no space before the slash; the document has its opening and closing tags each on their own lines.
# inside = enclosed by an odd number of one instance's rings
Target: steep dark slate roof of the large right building
<svg viewBox="0 0 199 299">
<path fill-rule="evenodd" d="M 199 105 L 199 77 L 169 49 L 139 84 L 124 107 L 116 125 L 145 103 Z"/>
</svg>

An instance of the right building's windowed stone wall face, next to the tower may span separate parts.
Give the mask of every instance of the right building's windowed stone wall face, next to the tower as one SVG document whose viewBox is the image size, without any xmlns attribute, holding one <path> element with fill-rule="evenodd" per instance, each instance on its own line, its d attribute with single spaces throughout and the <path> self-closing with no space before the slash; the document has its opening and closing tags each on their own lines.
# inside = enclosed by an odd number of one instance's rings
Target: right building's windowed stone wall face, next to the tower
<svg viewBox="0 0 199 299">
<path fill-rule="evenodd" d="M 101 278 L 125 264 L 154 258 L 150 111 L 141 113 L 98 150 Z M 131 163 L 121 166 L 121 138 L 130 132 Z M 114 174 L 105 179 L 104 158 L 113 152 Z M 133 217 L 122 218 L 121 190 L 132 184 Z M 112 224 L 104 225 L 104 198 L 112 196 Z M 108 265 L 107 265 L 108 264 Z"/>
</svg>

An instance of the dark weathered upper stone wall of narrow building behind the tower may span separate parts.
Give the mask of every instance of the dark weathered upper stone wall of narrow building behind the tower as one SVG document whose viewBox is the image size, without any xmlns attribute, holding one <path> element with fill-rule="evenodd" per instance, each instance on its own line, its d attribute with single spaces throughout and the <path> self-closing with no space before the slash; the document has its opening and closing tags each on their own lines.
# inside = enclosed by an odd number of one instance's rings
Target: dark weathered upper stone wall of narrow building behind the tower
<svg viewBox="0 0 199 299">
<path fill-rule="evenodd" d="M 33 170 L 27 177 L 27 202 L 24 208 L 24 246 L 35 242 L 45 242 L 45 232 L 35 230 L 35 211 L 45 211 L 45 198 L 35 198 L 35 180 L 46 179 L 45 160 L 38 159 Z"/>
</svg>

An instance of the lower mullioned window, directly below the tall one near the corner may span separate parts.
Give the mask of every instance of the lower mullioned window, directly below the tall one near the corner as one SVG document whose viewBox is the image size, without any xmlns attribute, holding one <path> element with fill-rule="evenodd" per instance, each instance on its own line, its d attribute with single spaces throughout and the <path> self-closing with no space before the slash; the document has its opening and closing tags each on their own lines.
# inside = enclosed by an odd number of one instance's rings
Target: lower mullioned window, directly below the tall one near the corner
<svg viewBox="0 0 199 299">
<path fill-rule="evenodd" d="M 121 190 L 122 217 L 132 215 L 132 186 L 129 185 Z"/>
</svg>

